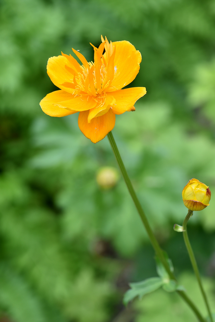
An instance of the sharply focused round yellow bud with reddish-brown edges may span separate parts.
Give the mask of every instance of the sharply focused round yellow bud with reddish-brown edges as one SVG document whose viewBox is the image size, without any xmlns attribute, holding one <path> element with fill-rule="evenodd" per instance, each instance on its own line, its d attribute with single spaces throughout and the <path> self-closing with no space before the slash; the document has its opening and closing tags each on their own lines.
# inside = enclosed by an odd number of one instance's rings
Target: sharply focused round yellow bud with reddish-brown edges
<svg viewBox="0 0 215 322">
<path fill-rule="evenodd" d="M 202 210 L 209 206 L 211 192 L 207 185 L 197 179 L 191 179 L 182 191 L 185 206 L 193 211 Z"/>
</svg>

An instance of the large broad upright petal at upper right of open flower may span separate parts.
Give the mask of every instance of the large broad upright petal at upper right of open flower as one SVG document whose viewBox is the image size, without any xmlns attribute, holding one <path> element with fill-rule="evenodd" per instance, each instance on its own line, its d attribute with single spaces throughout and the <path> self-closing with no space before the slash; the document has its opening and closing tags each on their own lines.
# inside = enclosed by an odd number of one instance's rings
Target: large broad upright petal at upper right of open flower
<svg viewBox="0 0 215 322">
<path fill-rule="evenodd" d="M 114 78 L 108 92 L 120 90 L 122 87 L 130 84 L 137 76 L 142 60 L 141 53 L 126 40 L 113 42 L 116 47 L 114 57 Z M 104 53 L 107 59 L 106 53 Z"/>
</svg>

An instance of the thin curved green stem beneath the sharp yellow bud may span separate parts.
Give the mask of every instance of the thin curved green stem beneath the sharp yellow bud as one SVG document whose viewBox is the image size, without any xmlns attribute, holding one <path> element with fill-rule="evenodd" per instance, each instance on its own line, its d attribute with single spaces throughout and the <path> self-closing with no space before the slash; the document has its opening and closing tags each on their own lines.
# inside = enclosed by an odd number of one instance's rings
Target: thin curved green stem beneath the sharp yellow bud
<svg viewBox="0 0 215 322">
<path fill-rule="evenodd" d="M 189 237 L 188 237 L 188 233 L 187 233 L 187 223 L 188 223 L 188 220 L 190 219 L 190 217 L 192 216 L 192 214 L 193 214 L 193 211 L 189 210 L 188 213 L 187 213 L 186 218 L 183 221 L 183 225 L 182 225 L 182 227 L 183 227 L 183 237 L 184 237 L 184 242 L 185 242 L 185 245 L 186 245 L 190 260 L 191 260 L 191 264 L 192 264 L 194 273 L 195 273 L 197 281 L 199 283 L 199 287 L 200 287 L 200 290 L 201 290 L 201 293 L 202 293 L 202 296 L 203 296 L 203 299 L 204 299 L 204 302 L 205 302 L 205 305 L 206 305 L 206 308 L 207 308 L 207 311 L 208 311 L 208 315 L 210 317 L 211 322 L 213 322 L 213 317 L 212 317 L 212 313 L 211 313 L 210 306 L 209 306 L 209 303 L 208 303 L 208 299 L 207 299 L 206 293 L 205 293 L 205 291 L 203 289 L 203 286 L 202 286 L 199 269 L 198 269 L 197 262 L 196 262 L 196 259 L 195 259 L 195 256 L 194 256 L 194 253 L 193 253 L 193 250 L 192 250 L 192 247 L 191 247 L 191 243 L 190 243 L 190 240 L 189 240 Z"/>
</svg>

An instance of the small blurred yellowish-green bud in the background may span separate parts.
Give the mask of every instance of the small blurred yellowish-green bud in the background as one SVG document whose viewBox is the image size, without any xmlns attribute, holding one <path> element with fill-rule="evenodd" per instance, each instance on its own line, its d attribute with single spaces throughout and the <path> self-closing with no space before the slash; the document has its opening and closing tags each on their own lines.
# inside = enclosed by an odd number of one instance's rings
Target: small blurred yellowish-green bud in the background
<svg viewBox="0 0 215 322">
<path fill-rule="evenodd" d="M 97 173 L 96 181 L 101 188 L 110 189 L 119 181 L 119 172 L 113 167 L 102 167 Z"/>
</svg>

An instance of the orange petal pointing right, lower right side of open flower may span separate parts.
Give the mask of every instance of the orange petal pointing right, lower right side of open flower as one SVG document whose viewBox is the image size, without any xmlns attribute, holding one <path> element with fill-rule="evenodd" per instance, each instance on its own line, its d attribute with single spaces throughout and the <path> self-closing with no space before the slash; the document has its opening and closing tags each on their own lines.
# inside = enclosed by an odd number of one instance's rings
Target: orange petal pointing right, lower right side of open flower
<svg viewBox="0 0 215 322">
<path fill-rule="evenodd" d="M 116 99 L 112 110 L 114 114 L 122 114 L 125 111 L 131 110 L 134 103 L 143 95 L 145 95 L 145 87 L 131 87 L 116 92 L 107 93 L 107 97 L 111 95 Z"/>
</svg>

